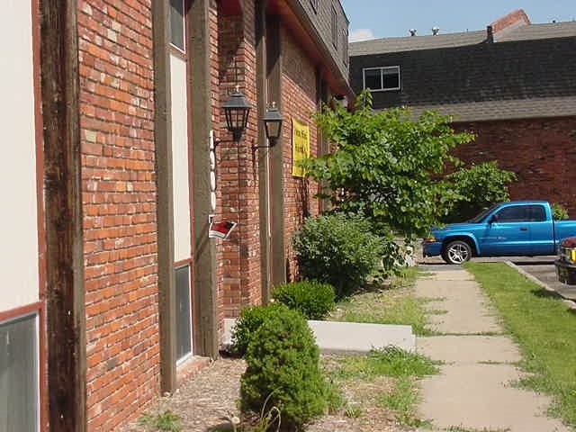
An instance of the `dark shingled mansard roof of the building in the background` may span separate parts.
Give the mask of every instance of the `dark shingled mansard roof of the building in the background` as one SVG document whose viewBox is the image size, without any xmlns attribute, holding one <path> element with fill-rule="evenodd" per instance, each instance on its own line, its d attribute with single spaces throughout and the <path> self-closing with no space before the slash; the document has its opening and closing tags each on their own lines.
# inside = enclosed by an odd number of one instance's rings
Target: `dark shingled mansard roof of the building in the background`
<svg viewBox="0 0 576 432">
<path fill-rule="evenodd" d="M 485 31 L 350 44 L 350 83 L 365 67 L 399 66 L 401 89 L 374 92 L 374 108 L 409 106 L 491 121 L 576 115 L 576 23 L 513 25 Z"/>
</svg>

